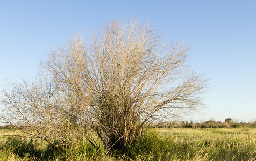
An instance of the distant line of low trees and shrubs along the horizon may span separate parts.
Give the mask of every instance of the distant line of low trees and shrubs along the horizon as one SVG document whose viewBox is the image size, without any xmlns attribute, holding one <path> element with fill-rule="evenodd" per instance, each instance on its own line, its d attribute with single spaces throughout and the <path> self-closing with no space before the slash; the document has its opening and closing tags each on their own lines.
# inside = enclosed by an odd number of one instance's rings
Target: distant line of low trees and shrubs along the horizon
<svg viewBox="0 0 256 161">
<path fill-rule="evenodd" d="M 202 123 L 194 123 L 193 121 L 181 122 L 160 122 L 153 124 L 154 128 L 256 128 L 256 121 L 254 122 L 234 122 L 231 118 L 221 121 L 204 121 Z"/>
</svg>

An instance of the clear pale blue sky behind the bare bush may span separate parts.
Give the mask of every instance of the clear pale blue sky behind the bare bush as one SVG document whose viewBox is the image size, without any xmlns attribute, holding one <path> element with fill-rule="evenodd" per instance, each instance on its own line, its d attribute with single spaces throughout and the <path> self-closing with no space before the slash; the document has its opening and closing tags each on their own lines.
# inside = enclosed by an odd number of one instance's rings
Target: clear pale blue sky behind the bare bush
<svg viewBox="0 0 256 161">
<path fill-rule="evenodd" d="M 256 1 L 1 1 L 0 89 L 32 77 L 79 28 L 130 18 L 190 46 L 191 68 L 209 79 L 208 107 L 186 119 L 256 120 Z"/>
</svg>

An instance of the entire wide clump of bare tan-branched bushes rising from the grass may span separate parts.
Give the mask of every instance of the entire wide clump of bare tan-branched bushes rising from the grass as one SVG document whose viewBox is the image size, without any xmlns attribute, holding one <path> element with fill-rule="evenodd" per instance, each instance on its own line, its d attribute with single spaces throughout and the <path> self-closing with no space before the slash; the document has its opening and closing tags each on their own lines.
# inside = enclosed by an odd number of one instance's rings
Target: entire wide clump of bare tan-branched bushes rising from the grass
<svg viewBox="0 0 256 161">
<path fill-rule="evenodd" d="M 49 54 L 39 84 L 5 93 L 5 120 L 36 126 L 50 143 L 56 134 L 61 144 L 75 143 L 93 130 L 106 148 L 126 152 L 152 122 L 202 105 L 205 81 L 188 69 L 187 53 L 133 20 L 108 23 L 89 41 L 77 34 Z"/>
</svg>

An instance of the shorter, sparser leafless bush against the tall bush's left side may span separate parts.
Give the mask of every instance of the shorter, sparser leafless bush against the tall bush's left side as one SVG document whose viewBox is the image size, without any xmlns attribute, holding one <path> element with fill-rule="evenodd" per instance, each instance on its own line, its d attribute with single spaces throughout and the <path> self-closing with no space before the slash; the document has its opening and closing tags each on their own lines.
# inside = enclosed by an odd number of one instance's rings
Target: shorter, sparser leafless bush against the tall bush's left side
<svg viewBox="0 0 256 161">
<path fill-rule="evenodd" d="M 52 148 L 73 148 L 85 139 L 91 141 L 89 124 L 81 122 L 86 111 L 77 109 L 81 105 L 62 92 L 53 79 L 42 78 L 10 84 L 2 100 L 1 119 L 18 129 L 17 135 L 41 138 Z"/>
</svg>

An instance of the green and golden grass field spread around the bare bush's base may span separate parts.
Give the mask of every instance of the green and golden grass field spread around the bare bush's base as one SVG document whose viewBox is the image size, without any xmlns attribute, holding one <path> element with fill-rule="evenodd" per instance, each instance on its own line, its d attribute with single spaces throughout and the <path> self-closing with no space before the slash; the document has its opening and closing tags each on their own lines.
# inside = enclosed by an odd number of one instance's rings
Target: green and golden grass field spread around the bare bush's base
<svg viewBox="0 0 256 161">
<path fill-rule="evenodd" d="M 106 155 L 81 143 L 76 149 L 49 150 L 40 140 L 10 137 L 0 130 L 0 160 L 256 160 L 253 128 L 155 128 L 139 138 L 123 155 Z"/>
</svg>

